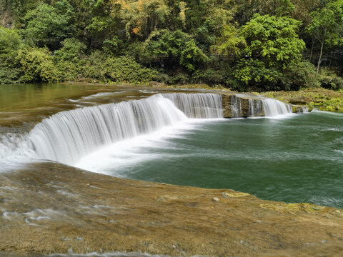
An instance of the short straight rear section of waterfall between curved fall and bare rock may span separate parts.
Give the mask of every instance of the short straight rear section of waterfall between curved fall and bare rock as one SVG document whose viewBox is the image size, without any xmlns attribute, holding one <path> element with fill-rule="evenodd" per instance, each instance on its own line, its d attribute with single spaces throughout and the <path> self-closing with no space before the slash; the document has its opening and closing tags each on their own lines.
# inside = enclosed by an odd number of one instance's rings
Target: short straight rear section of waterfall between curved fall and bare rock
<svg viewBox="0 0 343 257">
<path fill-rule="evenodd" d="M 189 118 L 222 118 L 221 94 L 163 94 Z"/>
</svg>

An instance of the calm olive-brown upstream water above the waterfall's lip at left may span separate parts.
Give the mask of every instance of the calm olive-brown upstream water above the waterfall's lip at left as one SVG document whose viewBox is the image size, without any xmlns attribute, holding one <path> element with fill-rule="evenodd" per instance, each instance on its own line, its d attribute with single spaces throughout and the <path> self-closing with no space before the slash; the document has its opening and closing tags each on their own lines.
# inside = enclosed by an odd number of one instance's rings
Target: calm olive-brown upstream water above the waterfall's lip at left
<svg viewBox="0 0 343 257">
<path fill-rule="evenodd" d="M 25 130 L 42 119 L 60 111 L 77 107 L 107 104 L 129 99 L 139 93 L 129 86 L 104 84 L 4 84 L 0 85 L 0 133 L 4 128 Z M 116 94 L 116 98 L 97 97 L 87 99 L 94 94 Z M 139 96 L 141 94 L 139 93 Z M 148 94 L 149 96 L 149 94 Z M 78 100 L 73 102 L 72 100 Z"/>
</svg>

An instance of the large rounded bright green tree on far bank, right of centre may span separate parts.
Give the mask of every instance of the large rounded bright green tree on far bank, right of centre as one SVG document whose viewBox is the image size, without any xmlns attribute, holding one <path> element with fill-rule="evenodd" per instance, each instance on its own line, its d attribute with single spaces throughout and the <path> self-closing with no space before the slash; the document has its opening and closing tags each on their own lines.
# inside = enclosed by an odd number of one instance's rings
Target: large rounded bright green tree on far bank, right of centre
<svg viewBox="0 0 343 257">
<path fill-rule="evenodd" d="M 229 30 L 227 41 L 219 49 L 236 52 L 239 58 L 234 69 L 236 79 L 245 84 L 272 84 L 281 89 L 284 71 L 302 59 L 305 44 L 297 35 L 300 24 L 288 17 L 256 14 L 242 26 L 239 34 L 235 35 L 234 29 Z M 239 44 L 245 46 L 241 51 Z"/>
</svg>

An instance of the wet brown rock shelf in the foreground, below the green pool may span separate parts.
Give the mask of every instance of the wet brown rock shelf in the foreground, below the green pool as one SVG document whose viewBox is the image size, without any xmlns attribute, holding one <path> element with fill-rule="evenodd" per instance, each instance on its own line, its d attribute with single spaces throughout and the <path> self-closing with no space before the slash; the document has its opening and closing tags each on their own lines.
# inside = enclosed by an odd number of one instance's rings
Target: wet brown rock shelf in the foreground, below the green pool
<svg viewBox="0 0 343 257">
<path fill-rule="evenodd" d="M 0 174 L 0 256 L 340 256 L 343 211 L 58 163 Z"/>
</svg>

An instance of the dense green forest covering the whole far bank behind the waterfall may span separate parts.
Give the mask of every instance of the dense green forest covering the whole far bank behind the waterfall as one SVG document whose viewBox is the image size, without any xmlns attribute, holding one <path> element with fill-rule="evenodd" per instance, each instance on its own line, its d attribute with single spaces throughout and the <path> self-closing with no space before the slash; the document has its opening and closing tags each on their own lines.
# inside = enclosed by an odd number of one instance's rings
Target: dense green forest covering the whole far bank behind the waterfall
<svg viewBox="0 0 343 257">
<path fill-rule="evenodd" d="M 323 56 L 343 57 L 343 0 L 0 0 L 0 7 L 0 83 L 342 89 L 342 62 L 319 68 Z"/>
</svg>

